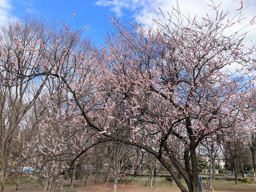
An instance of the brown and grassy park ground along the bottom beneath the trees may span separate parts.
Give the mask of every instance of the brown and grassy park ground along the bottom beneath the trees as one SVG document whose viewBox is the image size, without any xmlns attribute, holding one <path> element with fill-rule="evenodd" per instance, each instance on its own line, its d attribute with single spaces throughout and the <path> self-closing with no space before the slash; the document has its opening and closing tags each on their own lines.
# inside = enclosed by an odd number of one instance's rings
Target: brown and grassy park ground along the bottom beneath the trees
<svg viewBox="0 0 256 192">
<path fill-rule="evenodd" d="M 61 191 L 61 184 L 63 185 L 63 192 L 111 192 L 111 186 L 106 185 L 104 188 L 104 184 L 101 186 L 93 185 L 94 178 L 91 176 L 88 180 L 87 186 L 82 186 L 82 181 L 76 180 L 74 189 L 70 189 L 70 180 L 62 180 L 61 183 L 55 185 L 52 191 L 59 192 Z M 182 182 L 185 185 L 184 180 Z M 150 188 L 148 185 L 147 177 L 140 177 L 134 180 L 134 185 L 128 184 L 125 189 L 123 189 L 123 183 L 119 183 L 118 191 L 124 192 L 180 192 L 180 189 L 177 185 L 171 184 L 165 180 L 165 177 L 156 177 L 155 187 Z M 239 182 L 238 185 L 235 185 L 233 181 L 225 181 L 225 180 L 215 180 L 213 181 L 214 191 L 215 192 L 256 192 L 256 184 L 255 183 L 242 183 Z M 6 192 L 15 192 L 15 178 L 5 187 Z M 26 177 L 21 178 L 21 183 L 19 185 L 19 191 L 22 192 L 41 192 L 35 181 L 28 179 Z"/>
</svg>

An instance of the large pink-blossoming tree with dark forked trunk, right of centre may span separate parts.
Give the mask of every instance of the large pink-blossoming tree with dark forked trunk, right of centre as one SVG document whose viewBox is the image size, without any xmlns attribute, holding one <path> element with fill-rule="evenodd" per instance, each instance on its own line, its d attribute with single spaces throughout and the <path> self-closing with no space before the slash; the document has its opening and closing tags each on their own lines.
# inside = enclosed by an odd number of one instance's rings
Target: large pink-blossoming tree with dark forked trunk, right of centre
<svg viewBox="0 0 256 192">
<path fill-rule="evenodd" d="M 243 44 L 247 33 L 226 33 L 241 18 L 212 8 L 215 17 L 198 22 L 177 7 L 149 29 L 113 18 L 116 31 L 106 35 L 106 47 L 95 56 L 98 75 L 90 94 L 81 84 L 71 87 L 65 81 L 88 125 L 153 154 L 183 192 L 187 189 L 174 168 L 190 192 L 199 191 L 196 148 L 233 128 L 248 88 L 247 66 L 255 63 L 255 48 Z M 254 24 L 253 19 L 247 26 Z M 236 73 L 230 65 L 236 65 Z M 78 76 L 73 82 L 81 82 Z M 93 98 L 93 109 L 82 99 L 86 95 Z M 170 136 L 182 143 L 183 154 L 172 151 Z"/>
</svg>

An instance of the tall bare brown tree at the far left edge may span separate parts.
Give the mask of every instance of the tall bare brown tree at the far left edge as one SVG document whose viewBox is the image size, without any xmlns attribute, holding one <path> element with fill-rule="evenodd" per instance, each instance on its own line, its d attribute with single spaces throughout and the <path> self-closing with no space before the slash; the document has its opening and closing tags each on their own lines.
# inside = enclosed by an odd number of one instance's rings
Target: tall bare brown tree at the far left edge
<svg viewBox="0 0 256 192">
<path fill-rule="evenodd" d="M 32 21 L 29 17 L 0 28 L 1 192 L 6 185 L 12 162 L 16 161 L 20 165 L 24 160 L 21 153 L 26 146 L 20 144 L 20 138 L 29 139 L 33 133 L 34 126 L 26 127 L 24 119 L 40 96 L 48 76 L 35 78 L 30 75 L 35 73 L 35 63 L 44 62 L 47 55 L 44 45 L 51 41 L 49 34 L 52 28 L 53 23 L 37 19 Z M 27 78 L 20 79 L 17 76 Z"/>
</svg>

